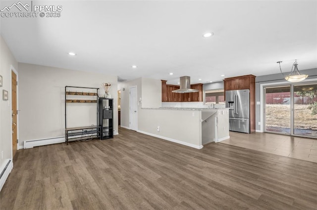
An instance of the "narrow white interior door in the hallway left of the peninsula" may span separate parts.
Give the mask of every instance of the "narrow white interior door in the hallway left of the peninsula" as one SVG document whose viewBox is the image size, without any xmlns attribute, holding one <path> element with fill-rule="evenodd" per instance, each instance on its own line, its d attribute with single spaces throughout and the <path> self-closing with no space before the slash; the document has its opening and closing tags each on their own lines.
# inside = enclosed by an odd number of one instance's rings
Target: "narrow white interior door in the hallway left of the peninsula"
<svg viewBox="0 0 317 210">
<path fill-rule="evenodd" d="M 138 130 L 138 95 L 137 87 L 130 87 L 130 129 Z"/>
</svg>

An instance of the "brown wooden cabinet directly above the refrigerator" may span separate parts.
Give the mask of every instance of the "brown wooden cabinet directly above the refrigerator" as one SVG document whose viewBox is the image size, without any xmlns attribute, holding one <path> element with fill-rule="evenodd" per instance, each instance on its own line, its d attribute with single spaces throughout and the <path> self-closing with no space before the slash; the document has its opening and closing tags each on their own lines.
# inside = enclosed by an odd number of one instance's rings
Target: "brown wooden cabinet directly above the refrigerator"
<svg viewBox="0 0 317 210">
<path fill-rule="evenodd" d="M 226 78 L 223 80 L 224 90 L 250 89 L 255 85 L 255 80 L 254 75 Z"/>
</svg>

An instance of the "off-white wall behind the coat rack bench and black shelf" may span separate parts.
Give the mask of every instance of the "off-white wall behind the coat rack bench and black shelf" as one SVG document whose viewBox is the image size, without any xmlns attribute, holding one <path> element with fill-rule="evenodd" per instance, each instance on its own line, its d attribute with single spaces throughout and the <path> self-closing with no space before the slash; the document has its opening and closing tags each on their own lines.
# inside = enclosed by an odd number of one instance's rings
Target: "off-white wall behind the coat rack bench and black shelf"
<svg viewBox="0 0 317 210">
<path fill-rule="evenodd" d="M 25 63 L 19 63 L 19 69 L 20 145 L 25 140 L 64 137 L 66 85 L 97 87 L 102 97 L 105 92 L 101 84 L 110 83 L 110 95 L 114 98 L 114 129 L 117 132 L 116 76 Z M 96 125 L 95 107 L 94 103 L 68 104 L 67 126 Z M 87 111 L 89 115 L 85 114 Z"/>
</svg>

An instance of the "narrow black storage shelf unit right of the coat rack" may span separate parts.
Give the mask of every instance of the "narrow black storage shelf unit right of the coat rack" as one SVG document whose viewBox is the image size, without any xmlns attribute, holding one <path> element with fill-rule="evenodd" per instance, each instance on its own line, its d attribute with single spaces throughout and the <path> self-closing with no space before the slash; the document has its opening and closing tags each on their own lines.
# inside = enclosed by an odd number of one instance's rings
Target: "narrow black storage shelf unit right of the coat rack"
<svg viewBox="0 0 317 210">
<path fill-rule="evenodd" d="M 99 98 L 98 106 L 101 139 L 113 138 L 113 98 Z"/>
</svg>

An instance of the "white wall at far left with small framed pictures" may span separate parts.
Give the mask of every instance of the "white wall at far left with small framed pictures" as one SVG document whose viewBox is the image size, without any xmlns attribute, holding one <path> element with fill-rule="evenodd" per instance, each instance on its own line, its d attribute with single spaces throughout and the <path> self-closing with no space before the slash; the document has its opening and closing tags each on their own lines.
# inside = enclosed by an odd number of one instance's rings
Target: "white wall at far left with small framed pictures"
<svg viewBox="0 0 317 210">
<path fill-rule="evenodd" d="M 0 36 L 0 75 L 2 84 L 0 87 L 0 153 L 3 151 L 3 158 L 0 156 L 0 167 L 6 159 L 12 159 L 12 134 L 11 134 L 11 65 L 18 71 L 18 64 L 10 49 Z M 2 100 L 2 90 L 9 93 L 9 100 Z"/>
</svg>

